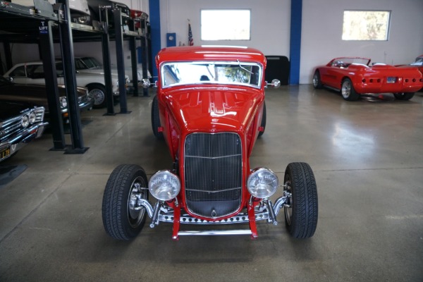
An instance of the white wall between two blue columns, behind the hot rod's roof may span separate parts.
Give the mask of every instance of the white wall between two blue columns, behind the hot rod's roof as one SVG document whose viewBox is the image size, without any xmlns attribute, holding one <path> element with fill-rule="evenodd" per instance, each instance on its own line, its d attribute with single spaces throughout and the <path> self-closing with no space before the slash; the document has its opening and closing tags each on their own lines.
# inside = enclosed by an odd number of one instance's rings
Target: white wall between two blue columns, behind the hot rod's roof
<svg viewBox="0 0 423 282">
<path fill-rule="evenodd" d="M 251 9 L 251 40 L 202 41 L 202 8 Z M 177 45 L 188 44 L 190 19 L 195 45 L 240 45 L 257 48 L 265 55 L 289 56 L 290 0 L 160 0 L 160 19 L 161 47 L 166 47 L 167 32 L 176 32 Z"/>
</svg>

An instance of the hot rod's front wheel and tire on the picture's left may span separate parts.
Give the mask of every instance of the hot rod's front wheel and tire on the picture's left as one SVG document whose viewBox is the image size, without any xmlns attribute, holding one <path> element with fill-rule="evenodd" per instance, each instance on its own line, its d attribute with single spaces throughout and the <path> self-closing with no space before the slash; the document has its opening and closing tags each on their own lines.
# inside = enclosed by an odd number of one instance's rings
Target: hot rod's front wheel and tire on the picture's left
<svg viewBox="0 0 423 282">
<path fill-rule="evenodd" d="M 147 210 L 137 206 L 137 197 L 148 200 L 145 171 L 137 165 L 121 164 L 109 176 L 103 195 L 103 226 L 112 238 L 130 240 L 142 230 Z"/>
</svg>

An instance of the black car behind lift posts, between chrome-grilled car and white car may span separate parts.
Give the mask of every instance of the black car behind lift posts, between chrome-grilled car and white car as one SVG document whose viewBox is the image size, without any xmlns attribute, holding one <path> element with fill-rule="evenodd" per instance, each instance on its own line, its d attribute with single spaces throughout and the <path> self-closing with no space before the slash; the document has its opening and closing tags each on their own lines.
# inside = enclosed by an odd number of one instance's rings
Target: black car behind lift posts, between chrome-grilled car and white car
<svg viewBox="0 0 423 282">
<path fill-rule="evenodd" d="M 77 87 L 80 111 L 92 109 L 94 101 L 88 96 L 87 88 Z M 26 102 L 35 106 L 44 106 L 46 118 L 49 118 L 49 104 L 45 85 L 23 85 L 13 83 L 0 75 L 0 101 Z M 59 101 L 63 121 L 68 121 L 68 102 L 65 86 L 59 85 Z"/>
</svg>

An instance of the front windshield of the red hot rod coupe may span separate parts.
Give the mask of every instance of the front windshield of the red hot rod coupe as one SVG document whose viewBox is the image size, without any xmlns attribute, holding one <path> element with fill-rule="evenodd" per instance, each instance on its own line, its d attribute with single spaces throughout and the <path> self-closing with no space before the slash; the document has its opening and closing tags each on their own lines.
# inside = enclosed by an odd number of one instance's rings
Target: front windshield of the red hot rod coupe
<svg viewBox="0 0 423 282">
<path fill-rule="evenodd" d="M 161 78 L 162 87 L 213 83 L 259 88 L 262 84 L 262 66 L 240 61 L 164 63 Z"/>
</svg>

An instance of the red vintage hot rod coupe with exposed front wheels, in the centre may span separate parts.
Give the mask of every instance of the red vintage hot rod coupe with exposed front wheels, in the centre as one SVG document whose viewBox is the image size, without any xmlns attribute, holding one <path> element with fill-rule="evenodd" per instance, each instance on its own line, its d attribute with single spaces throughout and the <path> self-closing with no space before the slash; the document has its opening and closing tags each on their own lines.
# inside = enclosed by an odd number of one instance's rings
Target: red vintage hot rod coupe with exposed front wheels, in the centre
<svg viewBox="0 0 423 282">
<path fill-rule="evenodd" d="M 172 223 L 181 235 L 250 235 L 257 221 L 275 226 L 284 209 L 288 232 L 309 238 L 317 227 L 317 186 L 306 163 L 288 164 L 283 183 L 269 168 L 251 169 L 249 157 L 266 127 L 266 58 L 246 47 L 171 47 L 156 57 L 159 78 L 152 129 L 164 139 L 173 168 L 147 180 L 144 169 L 123 164 L 109 176 L 102 218 L 112 238 L 129 240 L 149 226 Z M 148 80 L 144 81 L 145 87 Z M 282 188 L 273 203 L 270 197 Z M 149 194 L 157 201 L 149 202 Z M 244 223 L 244 224 L 242 224 Z M 185 225 L 186 224 L 186 225 Z M 197 226 L 182 230 L 181 225 Z M 238 224 L 235 229 L 225 224 Z"/>
</svg>

